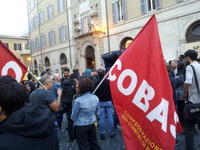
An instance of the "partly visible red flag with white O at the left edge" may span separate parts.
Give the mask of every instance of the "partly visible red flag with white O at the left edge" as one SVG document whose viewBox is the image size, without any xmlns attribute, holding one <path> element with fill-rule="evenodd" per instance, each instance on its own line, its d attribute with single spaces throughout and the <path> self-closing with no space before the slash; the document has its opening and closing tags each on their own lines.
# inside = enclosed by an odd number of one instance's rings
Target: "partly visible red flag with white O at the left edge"
<svg viewBox="0 0 200 150">
<path fill-rule="evenodd" d="M 0 76 L 9 75 L 18 82 L 22 81 L 27 68 L 1 41 L 0 58 Z"/>
</svg>

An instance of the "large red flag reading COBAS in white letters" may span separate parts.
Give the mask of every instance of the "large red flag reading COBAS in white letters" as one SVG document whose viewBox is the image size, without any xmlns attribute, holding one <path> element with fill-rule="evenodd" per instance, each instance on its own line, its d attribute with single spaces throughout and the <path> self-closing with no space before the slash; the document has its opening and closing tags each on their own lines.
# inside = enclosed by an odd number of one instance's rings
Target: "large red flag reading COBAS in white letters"
<svg viewBox="0 0 200 150">
<path fill-rule="evenodd" d="M 127 150 L 173 150 L 180 123 L 154 15 L 115 62 L 109 79 Z"/>
</svg>

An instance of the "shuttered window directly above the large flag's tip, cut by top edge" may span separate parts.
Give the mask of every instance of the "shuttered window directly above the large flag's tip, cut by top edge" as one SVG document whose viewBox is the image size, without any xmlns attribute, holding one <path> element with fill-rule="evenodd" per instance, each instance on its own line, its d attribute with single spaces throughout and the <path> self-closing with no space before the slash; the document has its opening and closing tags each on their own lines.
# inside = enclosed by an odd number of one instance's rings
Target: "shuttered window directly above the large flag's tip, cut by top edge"
<svg viewBox="0 0 200 150">
<path fill-rule="evenodd" d="M 160 8 L 160 0 L 141 0 L 142 14 L 156 10 Z"/>
</svg>

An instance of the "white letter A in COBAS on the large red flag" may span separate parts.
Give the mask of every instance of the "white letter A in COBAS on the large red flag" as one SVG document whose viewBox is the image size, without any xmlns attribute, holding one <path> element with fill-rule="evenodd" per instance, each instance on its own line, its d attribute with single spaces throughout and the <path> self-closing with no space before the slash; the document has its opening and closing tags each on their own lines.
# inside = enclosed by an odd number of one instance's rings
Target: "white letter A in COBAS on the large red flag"
<svg viewBox="0 0 200 150">
<path fill-rule="evenodd" d="M 161 103 L 146 116 L 151 122 L 158 120 L 162 124 L 161 129 L 164 132 L 167 132 L 168 107 L 169 102 L 165 99 L 162 99 Z M 161 113 L 163 115 L 161 115 Z"/>
</svg>

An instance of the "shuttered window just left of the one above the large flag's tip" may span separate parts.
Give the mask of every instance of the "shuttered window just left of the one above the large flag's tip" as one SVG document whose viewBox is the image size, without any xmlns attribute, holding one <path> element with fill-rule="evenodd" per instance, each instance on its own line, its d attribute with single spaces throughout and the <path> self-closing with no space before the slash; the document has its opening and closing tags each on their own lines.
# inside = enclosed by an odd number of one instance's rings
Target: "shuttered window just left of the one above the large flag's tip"
<svg viewBox="0 0 200 150">
<path fill-rule="evenodd" d="M 126 0 L 115 0 L 112 4 L 113 22 L 117 23 L 127 19 Z"/>
</svg>

